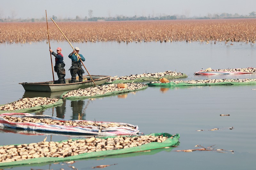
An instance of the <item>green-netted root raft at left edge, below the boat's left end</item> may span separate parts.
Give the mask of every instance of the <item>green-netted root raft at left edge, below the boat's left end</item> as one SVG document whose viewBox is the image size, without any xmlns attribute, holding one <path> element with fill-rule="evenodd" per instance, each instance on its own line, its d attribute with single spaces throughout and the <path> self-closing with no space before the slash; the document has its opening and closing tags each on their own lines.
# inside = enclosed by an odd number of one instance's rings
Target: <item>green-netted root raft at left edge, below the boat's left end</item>
<svg viewBox="0 0 256 170">
<path fill-rule="evenodd" d="M 63 104 L 62 99 L 47 98 L 47 97 L 34 97 L 24 98 L 12 103 L 0 105 L 0 113 L 10 112 L 36 112 L 46 108 L 61 106 Z"/>
</svg>

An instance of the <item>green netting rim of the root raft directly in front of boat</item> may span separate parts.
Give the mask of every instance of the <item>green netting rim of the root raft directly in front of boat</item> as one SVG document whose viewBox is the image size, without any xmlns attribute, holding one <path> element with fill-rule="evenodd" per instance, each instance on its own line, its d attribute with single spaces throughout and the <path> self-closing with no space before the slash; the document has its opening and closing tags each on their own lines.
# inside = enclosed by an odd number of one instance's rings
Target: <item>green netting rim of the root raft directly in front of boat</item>
<svg viewBox="0 0 256 170">
<path fill-rule="evenodd" d="M 143 87 L 135 89 L 135 90 L 124 89 L 124 90 L 120 90 L 120 91 L 107 92 L 105 94 L 96 94 L 94 96 L 70 96 L 70 97 L 66 97 L 66 98 L 63 98 L 63 96 L 65 94 L 67 94 L 68 92 L 64 92 L 64 93 L 61 94 L 60 98 L 61 99 L 68 99 L 68 100 L 83 100 L 83 99 L 87 99 L 87 98 L 100 98 L 100 97 L 104 97 L 104 96 L 116 95 L 116 94 L 125 93 L 125 92 L 138 91 L 138 90 L 146 89 L 147 87 L 148 86 L 143 86 Z"/>
</svg>

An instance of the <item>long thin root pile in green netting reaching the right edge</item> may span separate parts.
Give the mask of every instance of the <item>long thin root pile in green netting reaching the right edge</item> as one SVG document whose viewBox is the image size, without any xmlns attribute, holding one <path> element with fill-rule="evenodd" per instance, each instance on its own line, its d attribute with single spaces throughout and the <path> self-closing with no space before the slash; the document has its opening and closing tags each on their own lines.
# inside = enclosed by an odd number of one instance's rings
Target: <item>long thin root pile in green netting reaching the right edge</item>
<svg viewBox="0 0 256 170">
<path fill-rule="evenodd" d="M 172 83 L 178 84 L 178 83 L 189 83 L 189 84 L 206 84 L 206 83 L 220 83 L 220 82 L 250 82 L 250 81 L 256 81 L 256 79 L 210 79 L 210 80 L 178 80 L 178 81 L 170 81 Z M 161 83 L 160 81 L 154 81 L 151 83 Z"/>
</svg>

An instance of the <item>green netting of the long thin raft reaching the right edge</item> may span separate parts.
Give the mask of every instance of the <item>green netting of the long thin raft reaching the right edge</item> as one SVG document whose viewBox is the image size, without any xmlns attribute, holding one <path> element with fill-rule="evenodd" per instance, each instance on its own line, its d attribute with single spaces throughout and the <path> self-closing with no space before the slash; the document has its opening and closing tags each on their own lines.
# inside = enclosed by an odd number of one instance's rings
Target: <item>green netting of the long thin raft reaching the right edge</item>
<svg viewBox="0 0 256 170">
<path fill-rule="evenodd" d="M 218 82 L 218 83 L 148 83 L 148 86 L 192 86 L 192 85 L 255 85 L 256 81 L 250 82 Z"/>
</svg>

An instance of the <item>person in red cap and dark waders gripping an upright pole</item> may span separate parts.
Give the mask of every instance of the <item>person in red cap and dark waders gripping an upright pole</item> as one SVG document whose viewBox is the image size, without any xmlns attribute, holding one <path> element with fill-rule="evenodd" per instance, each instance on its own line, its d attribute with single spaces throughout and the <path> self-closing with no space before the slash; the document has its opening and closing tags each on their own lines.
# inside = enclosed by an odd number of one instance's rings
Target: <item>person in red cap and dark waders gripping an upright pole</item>
<svg viewBox="0 0 256 170">
<path fill-rule="evenodd" d="M 55 66 L 54 66 L 54 71 L 58 75 L 58 80 L 56 81 L 57 84 L 65 84 L 65 76 L 66 76 L 66 71 L 64 69 L 65 63 L 63 62 L 63 55 L 61 54 L 61 48 L 57 48 L 57 54 L 50 49 L 50 52 L 52 55 L 55 56 Z"/>
</svg>

